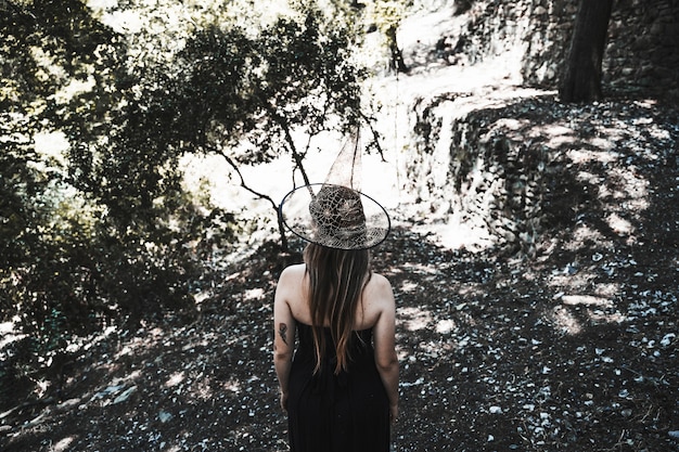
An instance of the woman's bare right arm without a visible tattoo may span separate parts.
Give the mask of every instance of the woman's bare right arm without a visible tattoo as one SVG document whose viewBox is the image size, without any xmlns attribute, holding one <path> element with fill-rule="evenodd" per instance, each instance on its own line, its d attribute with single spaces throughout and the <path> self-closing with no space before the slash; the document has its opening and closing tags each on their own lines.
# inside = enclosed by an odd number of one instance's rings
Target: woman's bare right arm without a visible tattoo
<svg viewBox="0 0 679 452">
<path fill-rule="evenodd" d="M 398 416 L 398 357 L 396 354 L 396 301 L 392 285 L 381 277 L 374 294 L 380 302 L 380 318 L 373 333 L 375 341 L 375 364 L 382 384 L 389 399 L 392 422 Z"/>
</svg>

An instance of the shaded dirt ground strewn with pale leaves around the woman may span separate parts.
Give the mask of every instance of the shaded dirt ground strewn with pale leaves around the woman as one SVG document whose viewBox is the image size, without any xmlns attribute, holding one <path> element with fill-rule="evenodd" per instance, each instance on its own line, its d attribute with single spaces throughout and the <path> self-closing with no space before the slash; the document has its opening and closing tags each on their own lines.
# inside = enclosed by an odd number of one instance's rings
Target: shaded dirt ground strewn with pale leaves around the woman
<svg viewBox="0 0 679 452">
<path fill-rule="evenodd" d="M 593 127 L 613 137 L 637 104 Z M 679 450 L 679 121 L 648 112 L 620 119 L 639 148 L 562 162 L 533 257 L 447 249 L 394 212 L 373 260 L 398 307 L 395 451 Z M 87 338 L 42 399 L 2 408 L 0 449 L 287 450 L 271 308 L 296 259 L 264 244 L 200 315 Z"/>
</svg>

